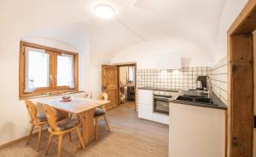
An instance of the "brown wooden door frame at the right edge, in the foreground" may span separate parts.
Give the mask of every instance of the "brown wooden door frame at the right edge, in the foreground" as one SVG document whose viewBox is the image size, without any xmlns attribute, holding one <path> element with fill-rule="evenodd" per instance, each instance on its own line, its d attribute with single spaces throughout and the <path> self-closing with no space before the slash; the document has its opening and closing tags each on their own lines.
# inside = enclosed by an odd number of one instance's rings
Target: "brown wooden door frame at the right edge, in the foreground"
<svg viewBox="0 0 256 157">
<path fill-rule="evenodd" d="M 256 0 L 249 0 L 228 31 L 227 157 L 253 156 L 253 31 Z"/>
</svg>

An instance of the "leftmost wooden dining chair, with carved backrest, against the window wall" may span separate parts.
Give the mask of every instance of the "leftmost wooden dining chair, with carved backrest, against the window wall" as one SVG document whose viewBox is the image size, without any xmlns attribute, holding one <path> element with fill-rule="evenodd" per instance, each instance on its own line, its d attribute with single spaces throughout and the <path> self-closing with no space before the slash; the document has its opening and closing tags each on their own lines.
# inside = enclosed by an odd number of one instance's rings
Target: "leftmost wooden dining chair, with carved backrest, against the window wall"
<svg viewBox="0 0 256 157">
<path fill-rule="evenodd" d="M 25 104 L 26 104 L 27 111 L 31 118 L 31 120 L 30 120 L 31 130 L 27 137 L 26 145 L 29 143 L 29 141 L 32 137 L 32 132 L 33 132 L 35 126 L 38 126 L 39 131 L 38 131 L 37 151 L 39 151 L 40 145 L 41 145 L 41 136 L 42 136 L 43 125 L 47 124 L 47 119 L 44 114 L 38 114 L 38 108 L 36 107 L 36 105 L 33 102 L 26 100 Z"/>
</svg>

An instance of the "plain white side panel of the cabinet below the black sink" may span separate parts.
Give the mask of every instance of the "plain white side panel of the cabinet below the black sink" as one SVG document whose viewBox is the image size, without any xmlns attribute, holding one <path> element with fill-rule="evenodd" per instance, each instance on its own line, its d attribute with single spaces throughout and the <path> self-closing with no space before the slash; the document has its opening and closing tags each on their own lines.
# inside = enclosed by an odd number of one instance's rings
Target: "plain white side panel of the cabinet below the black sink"
<svg viewBox="0 0 256 157">
<path fill-rule="evenodd" d="M 169 157 L 224 157 L 225 110 L 171 102 L 169 114 Z"/>
</svg>

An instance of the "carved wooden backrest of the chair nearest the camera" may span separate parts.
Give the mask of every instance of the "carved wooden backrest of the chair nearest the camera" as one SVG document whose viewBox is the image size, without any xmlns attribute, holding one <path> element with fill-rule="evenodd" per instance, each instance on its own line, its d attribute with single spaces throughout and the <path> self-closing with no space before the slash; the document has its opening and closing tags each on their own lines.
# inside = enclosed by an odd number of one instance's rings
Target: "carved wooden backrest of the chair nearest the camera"
<svg viewBox="0 0 256 157">
<path fill-rule="evenodd" d="M 59 127 L 57 126 L 57 119 L 58 115 L 54 108 L 49 107 L 49 105 L 43 104 L 44 113 L 47 117 L 49 127 L 52 131 L 60 131 Z"/>
</svg>

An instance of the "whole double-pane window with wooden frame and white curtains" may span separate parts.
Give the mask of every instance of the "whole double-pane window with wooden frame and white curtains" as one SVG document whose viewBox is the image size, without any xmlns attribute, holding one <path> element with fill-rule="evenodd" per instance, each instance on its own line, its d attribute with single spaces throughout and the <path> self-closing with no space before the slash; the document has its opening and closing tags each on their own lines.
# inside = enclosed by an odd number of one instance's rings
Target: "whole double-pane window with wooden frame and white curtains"
<svg viewBox="0 0 256 157">
<path fill-rule="evenodd" d="M 20 98 L 78 90 L 79 55 L 20 42 Z"/>
</svg>

